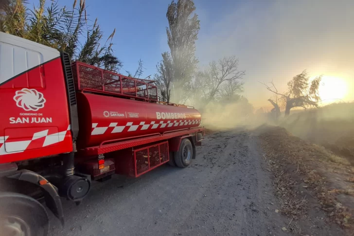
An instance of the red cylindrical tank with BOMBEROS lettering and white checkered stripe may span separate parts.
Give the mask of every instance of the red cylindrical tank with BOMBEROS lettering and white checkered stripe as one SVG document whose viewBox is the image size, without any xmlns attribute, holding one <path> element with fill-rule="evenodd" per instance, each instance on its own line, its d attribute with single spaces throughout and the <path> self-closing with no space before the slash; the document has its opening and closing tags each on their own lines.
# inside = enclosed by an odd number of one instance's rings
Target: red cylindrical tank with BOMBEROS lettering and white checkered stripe
<svg viewBox="0 0 354 236">
<path fill-rule="evenodd" d="M 78 147 L 107 140 L 198 127 L 196 109 L 78 92 Z"/>
</svg>

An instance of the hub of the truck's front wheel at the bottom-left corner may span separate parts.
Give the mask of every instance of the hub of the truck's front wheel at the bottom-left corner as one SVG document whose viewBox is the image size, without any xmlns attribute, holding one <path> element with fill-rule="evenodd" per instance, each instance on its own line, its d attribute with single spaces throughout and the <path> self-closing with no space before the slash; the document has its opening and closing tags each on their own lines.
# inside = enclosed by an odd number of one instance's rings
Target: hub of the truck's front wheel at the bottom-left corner
<svg viewBox="0 0 354 236">
<path fill-rule="evenodd" d="M 18 217 L 0 219 L 3 236 L 31 236 L 28 224 Z"/>
</svg>

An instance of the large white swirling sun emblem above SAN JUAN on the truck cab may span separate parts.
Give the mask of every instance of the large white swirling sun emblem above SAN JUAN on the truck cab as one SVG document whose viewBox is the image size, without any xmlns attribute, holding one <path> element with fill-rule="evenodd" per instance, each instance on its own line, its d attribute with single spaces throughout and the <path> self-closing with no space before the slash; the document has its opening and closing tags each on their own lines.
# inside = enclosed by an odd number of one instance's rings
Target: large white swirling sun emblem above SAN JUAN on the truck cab
<svg viewBox="0 0 354 236">
<path fill-rule="evenodd" d="M 44 103 L 46 102 L 43 93 L 38 92 L 35 89 L 22 89 L 16 91 L 14 100 L 19 108 L 26 111 L 37 111 L 44 108 Z"/>
</svg>

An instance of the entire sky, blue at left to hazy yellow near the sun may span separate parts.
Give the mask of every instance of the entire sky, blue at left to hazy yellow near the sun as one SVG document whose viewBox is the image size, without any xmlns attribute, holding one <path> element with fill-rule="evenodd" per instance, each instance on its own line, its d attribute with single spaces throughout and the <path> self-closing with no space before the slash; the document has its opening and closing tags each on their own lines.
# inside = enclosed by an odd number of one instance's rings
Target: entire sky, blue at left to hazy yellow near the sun
<svg viewBox="0 0 354 236">
<path fill-rule="evenodd" d="M 58 2 L 71 6 L 73 0 Z M 86 0 L 86 6 L 89 19 L 98 17 L 106 36 L 117 28 L 114 49 L 124 69 L 134 72 L 142 58 L 143 75 L 148 76 L 169 50 L 165 27 L 170 2 Z M 330 76 L 325 89 L 337 88 L 334 96 L 341 91 L 332 77 L 343 78 L 339 82 L 349 87 L 344 100 L 354 100 L 354 0 L 195 0 L 195 6 L 200 65 L 236 55 L 240 70 L 246 70 L 244 95 L 255 107 L 268 106 L 271 97 L 257 81 L 273 79 L 283 91 L 304 69 L 312 76 Z"/>
</svg>

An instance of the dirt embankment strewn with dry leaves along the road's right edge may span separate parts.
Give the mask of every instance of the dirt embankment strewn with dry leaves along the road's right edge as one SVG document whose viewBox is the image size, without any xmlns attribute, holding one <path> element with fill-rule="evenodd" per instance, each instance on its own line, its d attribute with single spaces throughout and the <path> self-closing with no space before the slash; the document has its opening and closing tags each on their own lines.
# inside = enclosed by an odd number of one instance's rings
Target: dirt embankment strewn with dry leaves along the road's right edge
<svg viewBox="0 0 354 236">
<path fill-rule="evenodd" d="M 257 130 L 274 175 L 281 212 L 292 219 L 290 230 L 303 235 L 354 235 L 354 167 L 325 148 L 303 141 L 281 127 Z M 301 231 L 302 229 L 302 231 Z M 328 234 L 324 231 L 326 230 Z"/>
</svg>

